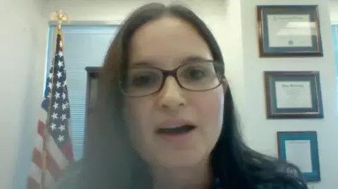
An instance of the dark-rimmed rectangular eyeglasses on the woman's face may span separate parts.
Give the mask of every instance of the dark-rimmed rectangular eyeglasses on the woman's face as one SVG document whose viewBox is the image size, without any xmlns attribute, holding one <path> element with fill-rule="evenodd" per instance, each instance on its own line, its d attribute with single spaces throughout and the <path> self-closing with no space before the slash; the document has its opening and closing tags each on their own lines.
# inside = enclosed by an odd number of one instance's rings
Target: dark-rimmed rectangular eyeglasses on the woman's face
<svg viewBox="0 0 338 189">
<path fill-rule="evenodd" d="M 139 66 L 127 70 L 120 82 L 125 96 L 142 97 L 161 91 L 165 80 L 172 76 L 177 84 L 187 91 L 209 91 L 222 83 L 222 65 L 213 60 L 185 63 L 174 70 L 158 67 Z"/>
</svg>

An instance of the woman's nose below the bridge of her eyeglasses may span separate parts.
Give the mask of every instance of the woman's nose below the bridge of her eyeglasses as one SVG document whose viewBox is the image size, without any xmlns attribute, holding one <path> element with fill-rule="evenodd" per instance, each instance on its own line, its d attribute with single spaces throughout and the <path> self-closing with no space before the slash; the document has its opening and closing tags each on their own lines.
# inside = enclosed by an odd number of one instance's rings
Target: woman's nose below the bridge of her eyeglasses
<svg viewBox="0 0 338 189">
<path fill-rule="evenodd" d="M 158 104 L 166 110 L 176 110 L 187 104 L 182 89 L 177 84 L 175 78 L 168 77 L 165 79 L 164 85 L 158 94 Z"/>
</svg>

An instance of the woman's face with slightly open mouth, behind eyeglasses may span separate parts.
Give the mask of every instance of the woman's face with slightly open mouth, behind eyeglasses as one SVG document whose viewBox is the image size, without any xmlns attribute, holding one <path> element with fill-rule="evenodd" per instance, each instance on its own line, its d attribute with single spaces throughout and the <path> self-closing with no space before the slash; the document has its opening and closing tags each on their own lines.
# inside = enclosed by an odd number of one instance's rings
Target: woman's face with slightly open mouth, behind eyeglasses
<svg viewBox="0 0 338 189">
<path fill-rule="evenodd" d="M 188 86 L 214 72 L 199 72 L 207 67 L 199 60 L 213 60 L 213 56 L 194 27 L 179 18 L 146 23 L 134 33 L 129 51 L 128 83 L 135 88 L 158 83 L 151 66 L 174 70 L 186 65 L 178 76 Z M 218 141 L 223 103 L 222 85 L 210 91 L 187 91 L 169 76 L 161 91 L 125 98 L 124 119 L 134 148 L 151 167 L 192 167 L 208 161 Z"/>
</svg>

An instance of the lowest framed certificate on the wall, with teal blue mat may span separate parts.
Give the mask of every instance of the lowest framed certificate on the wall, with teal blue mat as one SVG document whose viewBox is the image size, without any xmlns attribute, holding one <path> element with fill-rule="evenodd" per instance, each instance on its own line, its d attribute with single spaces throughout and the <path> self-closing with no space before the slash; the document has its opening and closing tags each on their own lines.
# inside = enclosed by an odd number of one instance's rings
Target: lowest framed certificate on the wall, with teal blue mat
<svg viewBox="0 0 338 189">
<path fill-rule="evenodd" d="M 296 165 L 307 182 L 320 181 L 316 131 L 277 132 L 278 157 Z"/>
</svg>

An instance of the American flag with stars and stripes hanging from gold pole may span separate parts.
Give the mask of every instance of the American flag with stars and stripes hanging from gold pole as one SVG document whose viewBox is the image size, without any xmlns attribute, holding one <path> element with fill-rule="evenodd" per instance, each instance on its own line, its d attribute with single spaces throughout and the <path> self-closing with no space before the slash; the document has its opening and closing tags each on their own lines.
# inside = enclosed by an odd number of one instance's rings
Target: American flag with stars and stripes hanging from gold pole
<svg viewBox="0 0 338 189">
<path fill-rule="evenodd" d="M 61 171 L 74 162 L 63 37 L 59 31 L 40 110 L 27 189 L 53 188 Z"/>
</svg>

